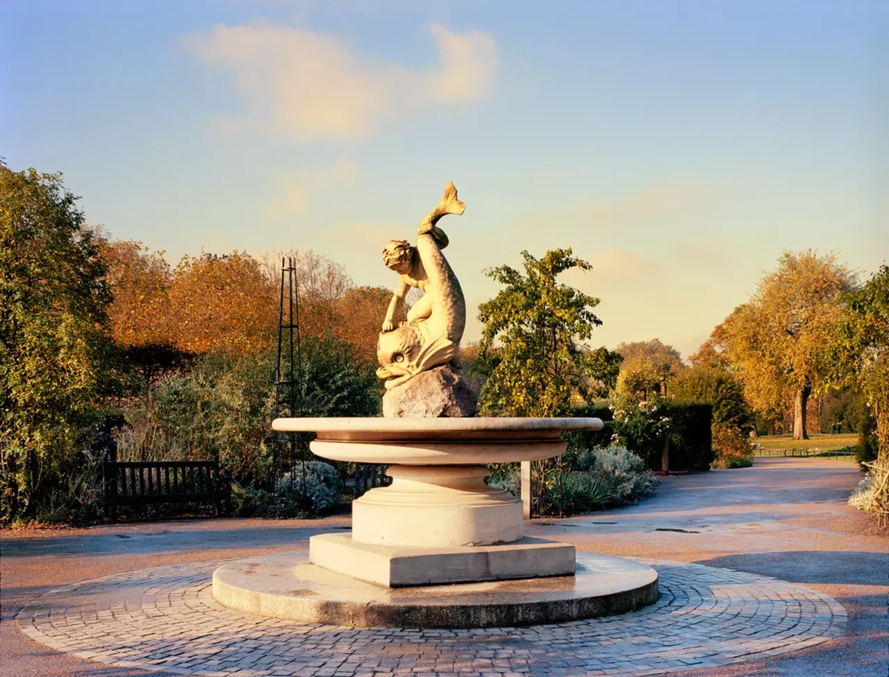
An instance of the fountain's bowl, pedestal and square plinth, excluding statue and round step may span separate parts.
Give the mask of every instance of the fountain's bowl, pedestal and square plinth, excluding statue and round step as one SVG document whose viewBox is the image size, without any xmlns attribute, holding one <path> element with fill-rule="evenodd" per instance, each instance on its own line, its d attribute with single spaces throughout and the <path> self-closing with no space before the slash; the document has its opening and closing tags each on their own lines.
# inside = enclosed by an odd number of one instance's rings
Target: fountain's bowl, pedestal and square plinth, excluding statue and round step
<svg viewBox="0 0 889 677">
<path fill-rule="evenodd" d="M 391 587 L 566 576 L 574 546 L 524 538 L 522 504 L 485 484 L 482 462 L 549 458 L 560 430 L 601 426 L 571 418 L 278 419 L 312 429 L 312 451 L 340 461 L 395 464 L 392 484 L 352 503 L 352 533 L 309 541 L 309 561 Z"/>
</svg>

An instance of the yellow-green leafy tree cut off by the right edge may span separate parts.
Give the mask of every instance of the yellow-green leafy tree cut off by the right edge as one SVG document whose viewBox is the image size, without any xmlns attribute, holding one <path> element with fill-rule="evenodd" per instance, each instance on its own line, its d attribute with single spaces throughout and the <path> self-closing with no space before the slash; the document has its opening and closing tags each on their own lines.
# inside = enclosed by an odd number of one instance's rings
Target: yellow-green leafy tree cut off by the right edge
<svg viewBox="0 0 889 677">
<path fill-rule="evenodd" d="M 829 384 L 864 395 L 877 424 L 877 460 L 889 462 L 889 267 L 844 300 L 829 349 Z"/>
</svg>

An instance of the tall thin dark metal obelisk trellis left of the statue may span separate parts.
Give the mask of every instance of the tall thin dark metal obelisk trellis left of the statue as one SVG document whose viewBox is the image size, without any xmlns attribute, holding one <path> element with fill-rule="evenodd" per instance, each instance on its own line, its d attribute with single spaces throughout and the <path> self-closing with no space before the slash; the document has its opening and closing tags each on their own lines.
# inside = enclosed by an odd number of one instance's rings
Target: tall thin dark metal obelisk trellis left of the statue
<svg viewBox="0 0 889 677">
<path fill-rule="evenodd" d="M 284 291 L 286 290 L 286 297 Z M 281 259 L 281 304 L 278 311 L 278 350 L 275 370 L 275 416 L 300 417 L 302 410 L 302 361 L 300 353 L 300 290 L 296 259 Z M 290 474 L 291 482 L 300 466 L 305 485 L 308 442 L 297 433 L 278 432 L 272 448 L 271 490 L 281 475 Z M 285 469 L 284 469 L 285 468 Z M 305 486 L 302 494 L 305 496 Z"/>
</svg>

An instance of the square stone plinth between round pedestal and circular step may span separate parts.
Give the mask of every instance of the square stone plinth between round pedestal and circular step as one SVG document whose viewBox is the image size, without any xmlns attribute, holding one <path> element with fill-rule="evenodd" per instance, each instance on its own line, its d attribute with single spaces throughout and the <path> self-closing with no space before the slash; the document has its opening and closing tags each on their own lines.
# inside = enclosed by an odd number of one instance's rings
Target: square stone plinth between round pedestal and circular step
<svg viewBox="0 0 889 677">
<path fill-rule="evenodd" d="M 313 564 L 387 587 L 568 576 L 574 555 L 574 546 L 530 537 L 503 546 L 451 548 L 375 546 L 350 534 L 308 541 Z"/>
</svg>

